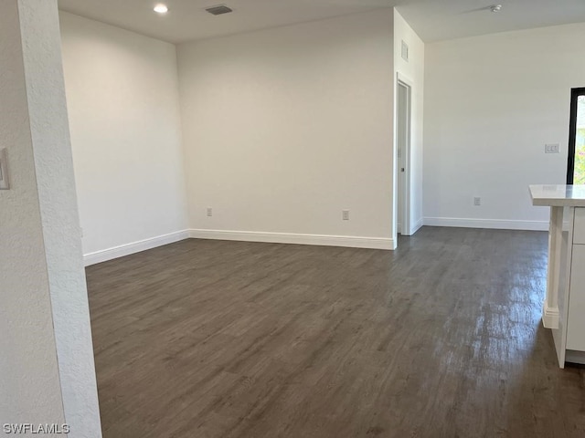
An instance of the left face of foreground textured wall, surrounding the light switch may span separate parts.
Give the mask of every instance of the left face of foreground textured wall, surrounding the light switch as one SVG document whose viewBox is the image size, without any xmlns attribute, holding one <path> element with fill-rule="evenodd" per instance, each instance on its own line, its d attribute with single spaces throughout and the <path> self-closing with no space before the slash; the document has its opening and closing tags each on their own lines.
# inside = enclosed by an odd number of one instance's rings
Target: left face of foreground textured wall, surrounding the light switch
<svg viewBox="0 0 585 438">
<path fill-rule="evenodd" d="M 0 423 L 63 422 L 16 0 L 0 14 Z"/>
</svg>

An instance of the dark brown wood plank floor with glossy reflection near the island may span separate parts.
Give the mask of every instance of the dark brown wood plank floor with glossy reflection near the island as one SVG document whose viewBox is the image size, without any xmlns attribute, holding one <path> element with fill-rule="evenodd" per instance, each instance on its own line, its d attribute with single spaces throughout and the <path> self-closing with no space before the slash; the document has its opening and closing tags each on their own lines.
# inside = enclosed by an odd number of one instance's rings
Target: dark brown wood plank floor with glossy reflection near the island
<svg viewBox="0 0 585 438">
<path fill-rule="evenodd" d="M 583 437 L 547 235 L 188 240 L 87 270 L 104 438 Z"/>
</svg>

